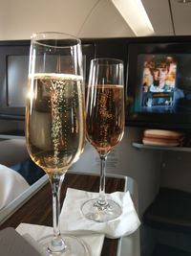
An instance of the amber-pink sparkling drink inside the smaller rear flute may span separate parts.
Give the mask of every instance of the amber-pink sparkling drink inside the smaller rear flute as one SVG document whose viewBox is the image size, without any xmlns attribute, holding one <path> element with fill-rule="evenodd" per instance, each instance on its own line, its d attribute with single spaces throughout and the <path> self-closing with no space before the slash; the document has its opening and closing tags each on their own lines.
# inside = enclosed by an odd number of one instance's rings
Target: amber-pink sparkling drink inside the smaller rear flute
<svg viewBox="0 0 191 256">
<path fill-rule="evenodd" d="M 111 151 L 124 133 L 123 86 L 90 86 L 88 93 L 88 139 L 96 151 Z"/>
</svg>

